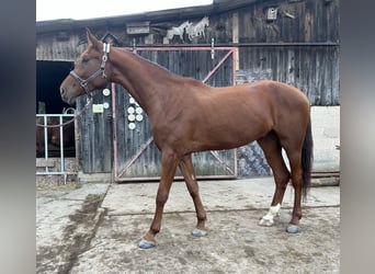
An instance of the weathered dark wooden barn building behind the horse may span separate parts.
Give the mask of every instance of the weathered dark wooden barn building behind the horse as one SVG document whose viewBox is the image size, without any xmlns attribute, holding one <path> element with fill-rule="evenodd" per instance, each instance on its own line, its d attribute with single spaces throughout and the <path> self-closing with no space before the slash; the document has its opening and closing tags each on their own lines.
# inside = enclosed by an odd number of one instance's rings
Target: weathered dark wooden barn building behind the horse
<svg viewBox="0 0 375 274">
<path fill-rule="evenodd" d="M 215 0 L 123 16 L 36 22 L 36 113 L 69 107 L 59 84 L 87 46 L 86 27 L 113 46 L 211 85 L 272 79 L 299 88 L 312 106 L 340 105 L 339 0 Z M 86 101 L 78 100 L 77 111 Z M 159 176 L 160 153 L 147 116 L 118 84 L 94 92 L 75 138 L 82 181 Z M 270 174 L 257 144 L 195 153 L 193 161 L 202 179 Z"/>
</svg>

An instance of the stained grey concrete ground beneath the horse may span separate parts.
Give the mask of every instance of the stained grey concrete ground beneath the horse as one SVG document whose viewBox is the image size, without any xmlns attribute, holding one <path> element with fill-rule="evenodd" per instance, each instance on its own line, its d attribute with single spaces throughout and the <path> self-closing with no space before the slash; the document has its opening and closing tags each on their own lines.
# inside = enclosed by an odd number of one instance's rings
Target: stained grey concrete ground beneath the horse
<svg viewBox="0 0 375 274">
<path fill-rule="evenodd" d="M 157 247 L 140 250 L 157 183 L 83 184 L 36 193 L 37 273 L 339 273 L 340 187 L 311 187 L 298 235 L 285 232 L 293 189 L 273 227 L 272 178 L 201 181 L 208 235 L 194 238 L 193 203 L 174 182 Z"/>
</svg>

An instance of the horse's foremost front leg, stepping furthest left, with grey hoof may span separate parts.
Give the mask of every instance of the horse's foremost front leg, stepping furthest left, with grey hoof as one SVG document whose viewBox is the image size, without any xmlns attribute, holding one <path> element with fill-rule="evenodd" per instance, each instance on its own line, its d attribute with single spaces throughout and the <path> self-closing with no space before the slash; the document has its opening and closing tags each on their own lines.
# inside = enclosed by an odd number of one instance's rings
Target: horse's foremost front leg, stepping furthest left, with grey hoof
<svg viewBox="0 0 375 274">
<path fill-rule="evenodd" d="M 156 196 L 156 210 L 149 231 L 139 242 L 139 248 L 149 249 L 156 246 L 155 236 L 160 231 L 161 217 L 171 189 L 179 159 L 173 152 L 161 152 L 161 175 L 158 193 Z"/>
</svg>

